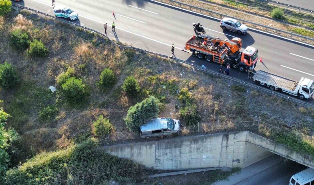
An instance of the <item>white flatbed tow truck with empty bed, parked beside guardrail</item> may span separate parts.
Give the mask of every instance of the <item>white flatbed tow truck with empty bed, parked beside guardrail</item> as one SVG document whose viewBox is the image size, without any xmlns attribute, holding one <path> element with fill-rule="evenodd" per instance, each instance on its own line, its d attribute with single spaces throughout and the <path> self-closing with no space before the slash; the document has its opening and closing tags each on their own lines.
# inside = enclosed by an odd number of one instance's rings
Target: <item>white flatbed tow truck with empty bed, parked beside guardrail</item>
<svg viewBox="0 0 314 185">
<path fill-rule="evenodd" d="M 310 99 L 314 93 L 313 80 L 303 77 L 299 82 L 297 82 L 279 75 L 258 70 L 253 76 L 253 81 L 257 84 L 268 87 L 270 90 L 276 90 L 289 95 L 298 96 L 300 99 Z"/>
</svg>

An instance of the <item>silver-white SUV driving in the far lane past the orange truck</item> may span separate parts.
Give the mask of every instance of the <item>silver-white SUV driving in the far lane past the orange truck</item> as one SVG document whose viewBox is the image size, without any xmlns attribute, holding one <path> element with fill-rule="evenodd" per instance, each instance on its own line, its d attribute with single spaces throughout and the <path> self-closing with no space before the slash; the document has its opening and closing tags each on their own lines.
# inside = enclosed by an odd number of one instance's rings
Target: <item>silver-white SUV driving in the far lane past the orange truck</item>
<svg viewBox="0 0 314 185">
<path fill-rule="evenodd" d="M 241 24 L 239 21 L 233 18 L 223 18 L 220 21 L 220 27 L 223 30 L 230 30 L 238 33 L 239 35 L 245 34 L 247 32 L 247 26 Z"/>
</svg>

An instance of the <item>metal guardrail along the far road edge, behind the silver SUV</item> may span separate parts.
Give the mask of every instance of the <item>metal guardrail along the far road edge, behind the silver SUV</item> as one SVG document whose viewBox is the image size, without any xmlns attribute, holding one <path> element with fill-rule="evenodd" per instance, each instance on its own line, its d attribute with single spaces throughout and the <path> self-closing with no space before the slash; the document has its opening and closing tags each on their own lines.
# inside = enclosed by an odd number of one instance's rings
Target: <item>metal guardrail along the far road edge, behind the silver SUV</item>
<svg viewBox="0 0 314 185">
<path fill-rule="evenodd" d="M 161 2 L 161 3 L 163 3 L 163 4 L 168 5 L 167 3 L 164 3 L 163 0 L 149 0 L 149 1 Z M 180 5 L 180 8 L 182 8 L 181 5 L 184 5 L 184 6 L 190 7 L 190 10 L 192 10 L 192 8 L 194 8 L 194 9 L 200 10 L 201 13 L 202 13 L 202 11 L 208 12 L 208 13 L 210 13 L 211 16 L 212 16 L 212 14 L 216 14 L 216 15 L 221 16 L 221 18 L 223 18 L 223 17 L 230 17 L 229 15 L 226 15 L 226 14 L 214 12 L 214 11 L 211 11 L 211 10 L 208 10 L 208 9 L 204 9 L 204 8 L 199 8 L 199 7 L 190 5 L 190 4 L 181 3 L 181 2 L 178 2 L 178 1 L 174 1 L 174 0 L 167 0 L 167 1 L 170 1 L 170 4 L 171 4 L 172 6 L 174 6 L 174 4 L 172 4 L 172 3 L 177 3 L 177 4 Z M 182 8 L 182 9 L 183 9 L 183 8 Z M 219 20 L 219 21 L 221 20 L 221 19 L 215 18 L 215 17 L 213 17 L 213 16 L 212 16 L 212 18 L 214 18 L 214 19 L 216 19 L 216 20 Z M 235 18 L 235 17 L 230 17 L 230 18 Z M 299 34 L 296 34 L 296 33 L 291 33 L 291 32 L 287 32 L 287 31 L 283 31 L 283 30 L 277 29 L 277 28 L 272 28 L 272 27 L 269 27 L 269 26 L 265 26 L 265 25 L 263 25 L 263 24 L 253 23 L 253 22 L 251 22 L 251 21 L 247 21 L 247 20 L 240 19 L 240 18 L 235 18 L 235 19 L 240 20 L 242 23 L 250 23 L 250 24 L 253 24 L 255 29 L 257 29 L 256 26 L 259 26 L 259 27 L 262 27 L 262 28 L 266 28 L 266 31 L 273 30 L 273 31 L 275 31 L 276 33 L 279 33 L 279 35 L 280 35 L 280 33 L 285 33 L 285 34 L 289 34 L 290 36 L 293 35 L 293 36 L 295 36 L 295 37 L 299 37 L 299 38 L 302 38 L 302 39 L 307 39 L 307 40 L 314 41 L 314 38 L 309 38 L 309 37 L 305 37 L 305 36 L 302 36 L 302 35 L 299 35 Z M 249 29 L 250 29 L 250 28 L 249 28 Z M 282 37 L 283 37 L 283 36 L 282 36 Z M 304 41 L 304 40 L 303 40 L 303 41 Z"/>
</svg>

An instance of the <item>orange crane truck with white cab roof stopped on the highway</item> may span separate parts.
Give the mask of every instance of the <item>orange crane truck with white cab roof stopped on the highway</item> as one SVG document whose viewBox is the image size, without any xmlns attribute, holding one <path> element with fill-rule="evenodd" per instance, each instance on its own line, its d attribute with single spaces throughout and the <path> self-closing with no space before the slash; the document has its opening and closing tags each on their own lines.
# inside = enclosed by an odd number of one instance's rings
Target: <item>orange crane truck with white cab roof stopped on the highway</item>
<svg viewBox="0 0 314 185">
<path fill-rule="evenodd" d="M 230 67 L 237 68 L 241 72 L 246 70 L 246 66 L 252 66 L 254 69 L 258 60 L 258 50 L 247 46 L 243 52 L 240 52 L 241 46 L 240 38 L 222 40 L 219 37 L 201 34 L 193 35 L 182 50 L 190 50 L 192 55 L 199 59 L 206 59 L 208 62 L 229 64 Z"/>
</svg>

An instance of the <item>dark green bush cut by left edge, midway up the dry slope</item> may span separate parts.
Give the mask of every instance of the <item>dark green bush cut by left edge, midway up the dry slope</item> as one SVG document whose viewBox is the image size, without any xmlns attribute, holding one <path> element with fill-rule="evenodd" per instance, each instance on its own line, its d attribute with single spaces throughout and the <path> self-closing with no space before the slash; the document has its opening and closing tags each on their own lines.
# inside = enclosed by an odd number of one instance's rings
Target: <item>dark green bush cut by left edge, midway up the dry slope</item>
<svg viewBox="0 0 314 185">
<path fill-rule="evenodd" d="M 0 64 L 0 85 L 10 88 L 19 80 L 19 76 L 11 64 Z"/>
</svg>

